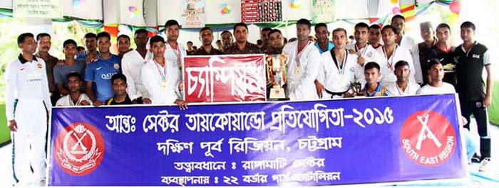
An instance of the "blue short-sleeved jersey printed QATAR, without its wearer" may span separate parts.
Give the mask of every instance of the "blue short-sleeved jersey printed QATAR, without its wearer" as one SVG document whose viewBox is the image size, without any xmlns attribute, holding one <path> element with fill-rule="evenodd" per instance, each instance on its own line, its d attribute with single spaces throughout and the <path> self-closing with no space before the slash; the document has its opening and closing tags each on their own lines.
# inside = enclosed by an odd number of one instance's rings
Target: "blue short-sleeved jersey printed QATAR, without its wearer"
<svg viewBox="0 0 499 188">
<path fill-rule="evenodd" d="M 121 58 L 118 55 L 111 55 L 107 60 L 99 57 L 97 61 L 87 65 L 85 81 L 96 84 L 93 93 L 99 101 L 105 102 L 114 96 L 111 88 L 111 77 L 119 72 L 121 72 Z"/>
</svg>

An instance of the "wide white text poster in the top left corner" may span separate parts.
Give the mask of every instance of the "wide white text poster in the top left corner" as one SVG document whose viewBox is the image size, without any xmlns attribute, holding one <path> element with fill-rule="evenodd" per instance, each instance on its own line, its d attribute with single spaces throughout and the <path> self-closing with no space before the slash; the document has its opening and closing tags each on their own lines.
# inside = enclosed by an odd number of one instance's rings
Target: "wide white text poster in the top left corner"
<svg viewBox="0 0 499 188">
<path fill-rule="evenodd" d="M 14 18 L 62 18 L 61 0 L 14 0 Z"/>
</svg>

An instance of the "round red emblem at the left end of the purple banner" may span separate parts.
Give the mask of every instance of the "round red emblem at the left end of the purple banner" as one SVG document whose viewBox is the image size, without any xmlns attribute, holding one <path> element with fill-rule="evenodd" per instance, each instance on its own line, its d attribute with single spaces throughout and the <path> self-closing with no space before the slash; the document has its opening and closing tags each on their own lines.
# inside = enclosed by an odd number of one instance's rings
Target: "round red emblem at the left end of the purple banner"
<svg viewBox="0 0 499 188">
<path fill-rule="evenodd" d="M 56 162 L 73 176 L 83 176 L 96 170 L 104 156 L 101 133 L 88 123 L 73 123 L 57 136 Z"/>
</svg>

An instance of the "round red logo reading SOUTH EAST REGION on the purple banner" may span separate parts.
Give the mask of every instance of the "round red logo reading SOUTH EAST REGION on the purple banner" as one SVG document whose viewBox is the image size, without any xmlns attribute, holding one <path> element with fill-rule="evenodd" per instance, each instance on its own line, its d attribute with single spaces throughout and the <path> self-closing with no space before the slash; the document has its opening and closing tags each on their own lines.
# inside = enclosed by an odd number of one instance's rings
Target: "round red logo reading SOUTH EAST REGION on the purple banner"
<svg viewBox="0 0 499 188">
<path fill-rule="evenodd" d="M 418 111 L 409 116 L 401 129 L 403 153 L 426 167 L 443 164 L 456 149 L 456 131 L 448 119 L 435 111 Z"/>
</svg>

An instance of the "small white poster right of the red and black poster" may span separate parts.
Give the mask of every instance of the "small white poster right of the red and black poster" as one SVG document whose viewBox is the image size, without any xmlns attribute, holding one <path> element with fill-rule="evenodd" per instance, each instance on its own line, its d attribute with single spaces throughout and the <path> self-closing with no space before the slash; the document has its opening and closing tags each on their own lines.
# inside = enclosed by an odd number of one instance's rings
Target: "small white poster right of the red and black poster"
<svg viewBox="0 0 499 188">
<path fill-rule="evenodd" d="M 334 21 L 335 0 L 313 0 L 312 1 L 312 23 L 329 23 Z"/>
</svg>

